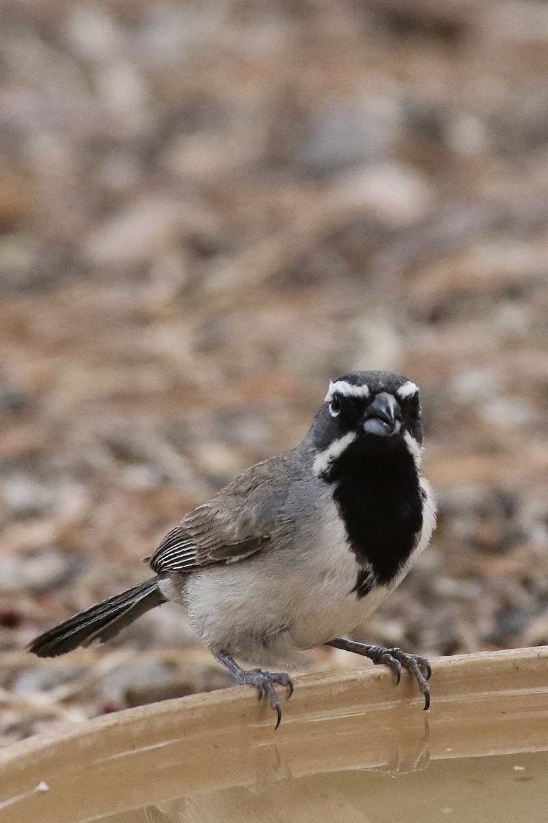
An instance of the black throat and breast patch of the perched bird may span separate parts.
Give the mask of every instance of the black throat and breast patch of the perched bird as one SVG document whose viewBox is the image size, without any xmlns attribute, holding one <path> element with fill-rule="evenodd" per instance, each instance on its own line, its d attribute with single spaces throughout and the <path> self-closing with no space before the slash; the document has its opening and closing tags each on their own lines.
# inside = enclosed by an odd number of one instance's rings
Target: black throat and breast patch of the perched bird
<svg viewBox="0 0 548 823">
<path fill-rule="evenodd" d="M 365 597 L 375 584 L 391 583 L 416 546 L 422 528 L 417 467 L 402 437 L 365 435 L 334 461 L 325 480 L 334 483 L 334 500 L 362 567 L 353 591 Z"/>
</svg>

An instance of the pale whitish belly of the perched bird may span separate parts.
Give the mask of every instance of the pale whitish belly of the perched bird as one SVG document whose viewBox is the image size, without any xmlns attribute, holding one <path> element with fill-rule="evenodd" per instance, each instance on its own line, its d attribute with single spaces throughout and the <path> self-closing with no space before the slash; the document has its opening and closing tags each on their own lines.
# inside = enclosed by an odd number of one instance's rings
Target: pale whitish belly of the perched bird
<svg viewBox="0 0 548 823">
<path fill-rule="evenodd" d="M 315 534 L 304 532 L 298 547 L 191 574 L 184 602 L 213 652 L 295 666 L 300 651 L 348 634 L 385 597 L 386 588 L 361 600 L 352 592 L 359 566 L 334 506 L 307 529 Z"/>
</svg>

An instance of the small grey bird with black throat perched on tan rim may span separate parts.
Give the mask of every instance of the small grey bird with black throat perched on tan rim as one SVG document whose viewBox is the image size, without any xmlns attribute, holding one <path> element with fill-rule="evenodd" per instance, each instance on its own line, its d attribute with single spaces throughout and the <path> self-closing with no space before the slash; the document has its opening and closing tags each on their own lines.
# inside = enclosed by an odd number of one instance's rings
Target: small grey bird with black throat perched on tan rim
<svg viewBox="0 0 548 823">
<path fill-rule="evenodd" d="M 186 514 L 145 558 L 154 577 L 45 631 L 30 651 L 56 657 L 103 642 L 171 601 L 237 683 L 265 695 L 275 728 L 276 686 L 290 697 L 293 683 L 264 667 L 300 667 L 322 645 L 386 664 L 397 683 L 407 669 L 428 709 L 426 658 L 348 638 L 431 540 L 435 495 L 422 450 L 412 380 L 364 370 L 330 381 L 302 442 Z"/>
</svg>

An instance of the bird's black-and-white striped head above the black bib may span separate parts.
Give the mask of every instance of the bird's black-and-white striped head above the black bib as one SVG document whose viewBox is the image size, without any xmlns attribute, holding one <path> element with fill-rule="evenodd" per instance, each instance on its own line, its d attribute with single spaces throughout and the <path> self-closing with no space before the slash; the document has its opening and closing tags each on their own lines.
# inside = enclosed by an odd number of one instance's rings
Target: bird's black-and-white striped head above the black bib
<svg viewBox="0 0 548 823">
<path fill-rule="evenodd" d="M 329 384 L 314 430 L 314 471 L 318 477 L 328 479 L 349 447 L 354 451 L 354 444 L 369 443 L 372 448 L 378 439 L 387 446 L 388 440 L 403 441 L 418 467 L 422 425 L 417 385 L 387 371 L 346 374 Z"/>
</svg>

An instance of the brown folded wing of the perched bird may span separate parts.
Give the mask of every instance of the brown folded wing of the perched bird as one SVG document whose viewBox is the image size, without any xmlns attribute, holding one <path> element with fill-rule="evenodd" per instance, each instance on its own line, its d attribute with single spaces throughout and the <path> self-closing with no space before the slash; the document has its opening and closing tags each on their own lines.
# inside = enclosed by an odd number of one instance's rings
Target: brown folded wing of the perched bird
<svg viewBox="0 0 548 823">
<path fill-rule="evenodd" d="M 292 472 L 283 470 L 287 463 L 288 455 L 258 463 L 187 514 L 163 538 L 150 559 L 151 568 L 157 574 L 190 572 L 242 560 L 265 548 L 292 480 Z"/>
</svg>

